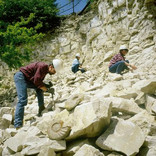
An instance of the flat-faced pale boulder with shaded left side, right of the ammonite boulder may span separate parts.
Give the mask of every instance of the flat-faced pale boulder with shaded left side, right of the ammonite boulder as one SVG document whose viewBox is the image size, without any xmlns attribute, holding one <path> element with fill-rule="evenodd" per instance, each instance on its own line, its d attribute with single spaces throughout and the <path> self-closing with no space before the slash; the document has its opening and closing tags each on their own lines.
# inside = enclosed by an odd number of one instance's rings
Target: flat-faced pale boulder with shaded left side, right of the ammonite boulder
<svg viewBox="0 0 156 156">
<path fill-rule="evenodd" d="M 96 144 L 104 150 L 119 151 L 131 156 L 139 152 L 144 140 L 144 133 L 139 126 L 130 121 L 114 119 Z"/>
</svg>

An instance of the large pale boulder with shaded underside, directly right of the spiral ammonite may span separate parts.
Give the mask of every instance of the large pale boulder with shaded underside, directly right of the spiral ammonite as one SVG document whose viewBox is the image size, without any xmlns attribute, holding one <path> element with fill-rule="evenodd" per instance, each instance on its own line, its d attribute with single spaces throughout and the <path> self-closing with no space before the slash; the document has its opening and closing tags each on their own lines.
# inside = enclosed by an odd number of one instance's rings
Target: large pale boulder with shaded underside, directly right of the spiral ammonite
<svg viewBox="0 0 156 156">
<path fill-rule="evenodd" d="M 109 124 L 111 117 L 111 102 L 94 99 L 90 103 L 77 106 L 70 116 L 72 118 L 71 132 L 66 138 L 73 140 L 80 136 L 95 137 Z"/>
</svg>

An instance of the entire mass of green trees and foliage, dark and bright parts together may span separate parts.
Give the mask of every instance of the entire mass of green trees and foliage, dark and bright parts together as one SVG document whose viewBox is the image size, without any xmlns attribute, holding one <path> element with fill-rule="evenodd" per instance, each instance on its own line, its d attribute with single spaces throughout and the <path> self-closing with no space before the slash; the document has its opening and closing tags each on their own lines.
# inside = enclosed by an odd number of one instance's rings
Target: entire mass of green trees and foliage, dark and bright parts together
<svg viewBox="0 0 156 156">
<path fill-rule="evenodd" d="M 29 61 L 32 45 L 59 25 L 55 0 L 0 0 L 0 59 L 10 68 Z"/>
</svg>

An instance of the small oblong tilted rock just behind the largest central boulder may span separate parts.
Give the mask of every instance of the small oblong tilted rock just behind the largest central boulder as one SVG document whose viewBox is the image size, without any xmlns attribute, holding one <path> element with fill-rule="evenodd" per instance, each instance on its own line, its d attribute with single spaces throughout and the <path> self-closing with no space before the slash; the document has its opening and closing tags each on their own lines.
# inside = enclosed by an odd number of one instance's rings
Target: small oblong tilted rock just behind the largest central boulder
<svg viewBox="0 0 156 156">
<path fill-rule="evenodd" d="M 83 99 L 84 99 L 84 95 L 83 94 L 81 94 L 81 93 L 73 94 L 65 102 L 65 108 L 68 111 L 70 111 L 74 107 L 76 107 Z"/>
</svg>

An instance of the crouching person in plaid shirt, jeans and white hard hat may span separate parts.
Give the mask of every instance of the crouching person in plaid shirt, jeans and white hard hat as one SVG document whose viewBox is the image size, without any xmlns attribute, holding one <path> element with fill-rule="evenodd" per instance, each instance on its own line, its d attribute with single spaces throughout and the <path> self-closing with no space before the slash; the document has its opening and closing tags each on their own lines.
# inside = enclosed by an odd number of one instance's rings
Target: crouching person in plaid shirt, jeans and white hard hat
<svg viewBox="0 0 156 156">
<path fill-rule="evenodd" d="M 125 55 L 127 53 L 128 48 L 125 45 L 121 45 L 119 53 L 110 60 L 109 71 L 111 73 L 122 74 L 122 71 L 124 71 L 125 69 L 137 69 L 134 65 L 129 64 L 128 60 L 125 60 Z"/>
</svg>

